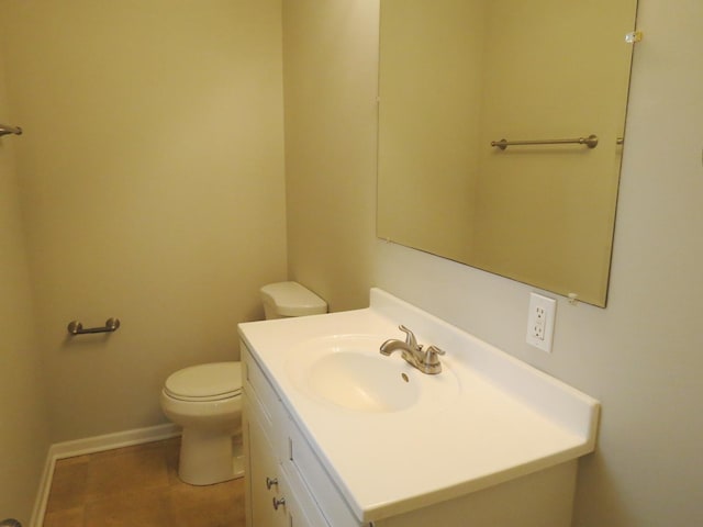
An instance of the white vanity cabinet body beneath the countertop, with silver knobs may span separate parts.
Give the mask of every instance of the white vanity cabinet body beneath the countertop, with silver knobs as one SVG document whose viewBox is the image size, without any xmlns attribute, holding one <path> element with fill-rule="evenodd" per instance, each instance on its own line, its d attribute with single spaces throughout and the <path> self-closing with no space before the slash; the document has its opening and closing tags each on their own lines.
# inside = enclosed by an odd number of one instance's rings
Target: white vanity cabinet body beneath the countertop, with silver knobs
<svg viewBox="0 0 703 527">
<path fill-rule="evenodd" d="M 242 343 L 247 527 L 566 527 L 576 460 L 376 522 L 361 522 Z M 378 459 L 380 464 L 383 459 Z M 412 461 L 410 461 L 412 462 Z"/>
</svg>

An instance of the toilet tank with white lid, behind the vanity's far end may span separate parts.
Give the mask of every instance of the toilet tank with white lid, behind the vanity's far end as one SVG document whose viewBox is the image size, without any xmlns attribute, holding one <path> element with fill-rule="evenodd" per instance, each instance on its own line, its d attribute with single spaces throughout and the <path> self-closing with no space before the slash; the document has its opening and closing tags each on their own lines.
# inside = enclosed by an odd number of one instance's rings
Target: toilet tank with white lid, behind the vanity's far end
<svg viewBox="0 0 703 527">
<path fill-rule="evenodd" d="M 298 282 L 269 283 L 260 291 L 267 321 L 327 312 L 327 303 Z"/>
</svg>

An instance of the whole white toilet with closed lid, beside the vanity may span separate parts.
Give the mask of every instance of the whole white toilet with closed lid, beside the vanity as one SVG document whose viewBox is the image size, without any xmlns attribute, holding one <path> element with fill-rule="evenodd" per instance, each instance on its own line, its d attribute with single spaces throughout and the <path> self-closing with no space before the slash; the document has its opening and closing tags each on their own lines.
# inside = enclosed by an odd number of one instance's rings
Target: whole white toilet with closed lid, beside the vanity
<svg viewBox="0 0 703 527">
<path fill-rule="evenodd" d="M 327 304 L 297 282 L 261 288 L 266 318 L 315 315 Z M 164 414 L 183 428 L 178 476 L 211 485 L 244 474 L 242 459 L 242 367 L 211 362 L 178 370 L 161 390 Z"/>
</svg>

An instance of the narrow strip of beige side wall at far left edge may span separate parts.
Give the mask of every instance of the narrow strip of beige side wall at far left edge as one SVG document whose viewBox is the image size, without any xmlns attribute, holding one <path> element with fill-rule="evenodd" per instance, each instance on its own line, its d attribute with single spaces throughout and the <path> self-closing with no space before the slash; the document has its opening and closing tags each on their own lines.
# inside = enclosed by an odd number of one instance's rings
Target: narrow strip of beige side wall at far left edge
<svg viewBox="0 0 703 527">
<path fill-rule="evenodd" d="M 12 124 L 0 48 L 0 123 Z M 13 154 L 0 138 L 0 519 L 29 525 L 48 448 L 47 408 Z"/>
</svg>

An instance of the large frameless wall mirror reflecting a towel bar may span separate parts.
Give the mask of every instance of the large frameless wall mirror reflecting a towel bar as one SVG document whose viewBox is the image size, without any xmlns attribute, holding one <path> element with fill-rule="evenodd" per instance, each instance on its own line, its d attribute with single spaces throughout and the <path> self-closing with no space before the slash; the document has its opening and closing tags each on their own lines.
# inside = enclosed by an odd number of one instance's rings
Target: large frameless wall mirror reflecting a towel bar
<svg viewBox="0 0 703 527">
<path fill-rule="evenodd" d="M 381 0 L 378 236 L 604 306 L 636 9 Z"/>
</svg>

